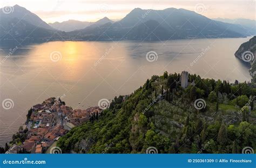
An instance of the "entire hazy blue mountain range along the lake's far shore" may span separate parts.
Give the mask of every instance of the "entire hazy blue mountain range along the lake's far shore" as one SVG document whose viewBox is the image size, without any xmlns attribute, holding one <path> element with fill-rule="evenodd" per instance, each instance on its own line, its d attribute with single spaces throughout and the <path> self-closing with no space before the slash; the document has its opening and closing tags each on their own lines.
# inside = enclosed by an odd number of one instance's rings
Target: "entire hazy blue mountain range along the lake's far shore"
<svg viewBox="0 0 256 168">
<path fill-rule="evenodd" d="M 252 36 L 248 27 L 212 20 L 196 12 L 168 8 L 136 8 L 113 22 L 105 17 L 95 23 L 68 20 L 47 24 L 35 13 L 12 6 L 0 10 L 0 41 L 44 42 L 55 40 L 169 40 L 194 38 L 235 38 Z"/>
</svg>

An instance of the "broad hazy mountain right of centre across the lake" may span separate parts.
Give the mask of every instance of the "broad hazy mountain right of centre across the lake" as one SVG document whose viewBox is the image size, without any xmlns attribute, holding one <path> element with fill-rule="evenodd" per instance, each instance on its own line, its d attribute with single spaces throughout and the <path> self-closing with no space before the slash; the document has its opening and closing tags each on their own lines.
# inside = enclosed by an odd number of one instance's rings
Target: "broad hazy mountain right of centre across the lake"
<svg viewBox="0 0 256 168">
<path fill-rule="evenodd" d="M 154 24 L 149 24 L 150 22 Z M 97 30 L 86 27 L 77 31 L 84 38 L 88 35 L 111 40 L 244 37 L 247 35 L 244 32 L 245 29 L 240 26 L 218 22 L 193 11 L 175 8 L 165 10 L 136 8 L 112 25 L 102 25 Z"/>
</svg>

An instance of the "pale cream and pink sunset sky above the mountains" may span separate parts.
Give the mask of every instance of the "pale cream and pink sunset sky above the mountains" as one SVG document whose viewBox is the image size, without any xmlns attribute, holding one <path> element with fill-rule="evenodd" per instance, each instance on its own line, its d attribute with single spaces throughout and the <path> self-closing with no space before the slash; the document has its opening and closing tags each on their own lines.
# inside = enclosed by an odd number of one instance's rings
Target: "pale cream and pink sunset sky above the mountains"
<svg viewBox="0 0 256 168">
<path fill-rule="evenodd" d="M 18 4 L 46 23 L 69 19 L 95 22 L 103 17 L 122 19 L 134 8 L 183 8 L 208 18 L 256 18 L 256 0 L 0 0 L 0 8 Z"/>
</svg>

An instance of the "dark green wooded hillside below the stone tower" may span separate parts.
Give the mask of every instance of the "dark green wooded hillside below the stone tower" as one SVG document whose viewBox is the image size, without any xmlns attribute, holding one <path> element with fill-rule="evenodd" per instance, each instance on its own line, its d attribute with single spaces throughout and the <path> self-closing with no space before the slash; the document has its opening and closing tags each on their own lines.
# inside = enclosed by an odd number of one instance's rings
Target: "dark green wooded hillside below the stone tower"
<svg viewBox="0 0 256 168">
<path fill-rule="evenodd" d="M 192 85 L 183 89 L 179 78 L 167 72 L 152 76 L 131 95 L 115 97 L 98 120 L 73 128 L 57 145 L 64 153 L 145 153 L 149 146 L 158 153 L 256 149 L 256 111 L 253 103 L 251 111 L 242 108 L 256 95 L 252 83 L 234 85 L 189 74 Z M 204 99 L 206 107 L 197 110 L 197 99 Z"/>
</svg>

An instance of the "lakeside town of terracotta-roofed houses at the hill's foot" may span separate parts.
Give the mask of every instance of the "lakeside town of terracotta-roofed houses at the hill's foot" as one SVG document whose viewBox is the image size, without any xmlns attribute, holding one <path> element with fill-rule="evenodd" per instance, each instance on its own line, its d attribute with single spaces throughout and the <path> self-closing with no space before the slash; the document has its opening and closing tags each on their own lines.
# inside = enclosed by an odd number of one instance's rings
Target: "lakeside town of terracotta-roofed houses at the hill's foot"
<svg viewBox="0 0 256 168">
<path fill-rule="evenodd" d="M 5 153 L 47 153 L 69 130 L 92 117 L 97 118 L 101 112 L 99 107 L 72 109 L 60 98 L 46 99 L 28 111 L 25 128 L 21 126 L 12 136 L 10 146 L 5 146 L 8 148 Z"/>
</svg>

